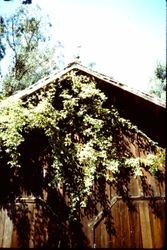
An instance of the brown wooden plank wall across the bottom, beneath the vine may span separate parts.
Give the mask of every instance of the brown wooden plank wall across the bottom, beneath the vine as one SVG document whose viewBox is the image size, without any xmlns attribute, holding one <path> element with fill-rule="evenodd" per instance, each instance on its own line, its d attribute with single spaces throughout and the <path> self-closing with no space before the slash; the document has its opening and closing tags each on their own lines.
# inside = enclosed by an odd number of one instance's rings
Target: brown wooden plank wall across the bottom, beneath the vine
<svg viewBox="0 0 167 250">
<path fill-rule="evenodd" d="M 38 135 L 41 136 L 40 133 Z M 39 142 L 34 134 L 33 138 L 36 143 Z M 29 140 L 24 143 L 24 149 L 29 150 L 28 142 Z M 41 155 L 43 144 L 41 141 L 40 143 Z M 44 138 L 43 143 L 46 143 Z M 144 156 L 144 151 L 139 150 L 137 143 L 129 144 L 128 140 L 126 143 L 134 157 Z M 30 144 L 36 145 L 32 141 Z M 31 149 L 34 151 L 33 147 Z M 38 160 L 38 155 L 31 157 Z M 43 167 L 46 167 L 45 160 L 44 157 L 44 162 L 41 161 Z M 30 164 L 30 161 L 27 162 Z M 33 168 L 29 164 L 24 169 L 34 171 L 36 168 L 34 163 Z M 164 171 L 162 167 L 161 170 Z M 12 198 L 14 195 L 12 193 L 12 197 L 11 194 L 7 194 L 9 199 L 4 198 L 3 202 L 0 201 L 0 247 L 162 247 L 165 241 L 165 180 L 157 179 L 146 171 L 144 174 L 145 178 L 131 177 L 128 182 L 126 173 L 125 176 L 120 176 L 120 188 L 129 189 L 127 197 L 119 194 L 119 187 L 116 190 L 115 187 L 106 184 L 106 194 L 111 202 L 113 218 L 112 233 L 109 234 L 101 210 L 91 219 L 83 217 L 81 224 L 70 225 L 67 222 L 68 205 L 62 186 L 60 185 L 60 189 L 55 191 L 35 192 L 32 181 L 34 179 L 29 173 L 30 178 L 27 179 L 26 175 L 26 180 L 31 194 L 24 190 L 20 198 L 17 195 L 16 199 Z M 41 171 L 36 173 L 36 179 L 39 179 L 38 175 L 41 176 Z M 25 187 L 27 186 L 24 185 L 24 189 Z M 3 185 L 1 188 L 3 189 Z M 37 188 L 39 189 L 39 185 Z M 38 194 L 38 197 L 35 197 L 35 194 Z"/>
</svg>

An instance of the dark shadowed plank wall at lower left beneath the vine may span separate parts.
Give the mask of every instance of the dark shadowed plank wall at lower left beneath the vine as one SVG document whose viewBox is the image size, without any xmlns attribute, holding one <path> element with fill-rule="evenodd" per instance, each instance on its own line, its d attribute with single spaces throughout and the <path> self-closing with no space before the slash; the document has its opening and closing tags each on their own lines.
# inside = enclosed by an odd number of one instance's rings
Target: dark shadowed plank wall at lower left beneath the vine
<svg viewBox="0 0 167 250">
<path fill-rule="evenodd" d="M 33 131 L 20 147 L 21 168 L 10 168 L 7 157 L 1 159 L 0 247 L 88 245 L 80 222 L 69 222 L 64 197 L 47 187 L 49 174 L 44 181 L 43 167 L 51 163 L 48 145 L 41 131 Z"/>
</svg>

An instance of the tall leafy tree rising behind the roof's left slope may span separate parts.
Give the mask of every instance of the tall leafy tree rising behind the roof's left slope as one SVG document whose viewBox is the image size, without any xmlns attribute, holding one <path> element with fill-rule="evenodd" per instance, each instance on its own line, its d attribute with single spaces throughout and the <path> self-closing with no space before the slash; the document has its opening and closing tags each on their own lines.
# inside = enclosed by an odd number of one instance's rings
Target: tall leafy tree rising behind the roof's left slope
<svg viewBox="0 0 167 250">
<path fill-rule="evenodd" d="M 51 45 L 51 23 L 39 7 L 26 5 L 4 18 L 1 39 L 6 52 L 10 51 L 8 73 L 3 77 L 5 96 L 30 86 L 58 68 L 56 49 L 61 44 Z"/>
</svg>

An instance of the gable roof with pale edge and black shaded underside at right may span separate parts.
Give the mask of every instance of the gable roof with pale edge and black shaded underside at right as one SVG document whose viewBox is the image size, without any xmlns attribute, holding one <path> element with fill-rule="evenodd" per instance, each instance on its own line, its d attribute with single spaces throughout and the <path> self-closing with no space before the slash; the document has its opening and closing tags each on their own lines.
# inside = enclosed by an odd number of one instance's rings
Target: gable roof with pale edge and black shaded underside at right
<svg viewBox="0 0 167 250">
<path fill-rule="evenodd" d="M 148 137 L 158 142 L 160 146 L 165 147 L 165 103 L 151 95 L 115 81 L 112 77 L 88 69 L 78 62 L 70 63 L 60 72 L 41 79 L 25 90 L 17 92 L 13 97 L 24 99 L 50 83 L 56 82 L 57 79 L 61 79 L 71 71 L 93 76 L 96 79 L 97 87 L 108 96 L 108 104 L 114 104 L 124 118 L 131 120 Z"/>
</svg>

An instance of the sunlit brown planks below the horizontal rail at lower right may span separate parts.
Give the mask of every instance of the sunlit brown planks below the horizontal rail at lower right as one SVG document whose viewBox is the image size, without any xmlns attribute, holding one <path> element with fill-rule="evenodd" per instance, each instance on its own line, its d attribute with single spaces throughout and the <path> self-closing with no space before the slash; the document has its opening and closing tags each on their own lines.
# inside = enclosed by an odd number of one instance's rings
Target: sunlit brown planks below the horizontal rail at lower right
<svg viewBox="0 0 167 250">
<path fill-rule="evenodd" d="M 157 217 L 147 200 L 136 200 L 136 211 L 129 211 L 120 199 L 112 207 L 115 235 L 109 237 L 102 220 L 95 228 L 97 248 L 161 248 L 164 246 L 164 218 Z M 164 202 L 157 201 L 163 216 Z"/>
</svg>

